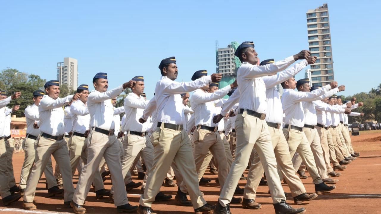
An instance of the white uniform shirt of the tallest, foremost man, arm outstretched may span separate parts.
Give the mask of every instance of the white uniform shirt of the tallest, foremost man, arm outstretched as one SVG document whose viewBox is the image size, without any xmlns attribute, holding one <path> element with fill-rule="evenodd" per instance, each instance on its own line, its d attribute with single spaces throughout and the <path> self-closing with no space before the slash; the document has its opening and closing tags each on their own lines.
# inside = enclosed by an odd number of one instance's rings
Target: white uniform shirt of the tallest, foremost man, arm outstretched
<svg viewBox="0 0 381 214">
<path fill-rule="evenodd" d="M 239 108 L 266 113 L 266 86 L 262 77 L 280 72 L 293 62 L 293 56 L 263 66 L 243 62 L 237 70 L 237 90 L 243 95 L 239 98 Z"/>
</svg>

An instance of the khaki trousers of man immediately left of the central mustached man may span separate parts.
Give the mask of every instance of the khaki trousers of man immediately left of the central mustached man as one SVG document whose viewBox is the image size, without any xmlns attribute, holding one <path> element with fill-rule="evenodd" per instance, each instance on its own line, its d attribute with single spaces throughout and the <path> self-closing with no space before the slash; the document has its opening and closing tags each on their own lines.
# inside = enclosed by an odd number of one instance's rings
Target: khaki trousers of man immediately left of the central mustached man
<svg viewBox="0 0 381 214">
<path fill-rule="evenodd" d="M 139 157 L 144 159 L 144 164 L 146 164 L 147 171 L 143 179 L 142 187 L 146 187 L 147 176 L 149 171 L 152 169 L 154 161 L 154 147 L 151 143 L 149 136 L 137 136 L 130 134 L 130 131 L 125 135 L 123 139 L 123 151 L 124 157 L 122 160 L 122 175 L 123 178 L 126 177 L 128 172 L 133 168 L 133 163 L 137 162 Z M 131 174 L 130 174 L 131 175 Z M 132 181 L 132 180 L 131 180 Z M 131 182 L 127 181 L 128 183 Z M 125 182 L 126 183 L 126 182 Z M 111 193 L 114 193 L 114 188 L 111 188 Z"/>
</svg>

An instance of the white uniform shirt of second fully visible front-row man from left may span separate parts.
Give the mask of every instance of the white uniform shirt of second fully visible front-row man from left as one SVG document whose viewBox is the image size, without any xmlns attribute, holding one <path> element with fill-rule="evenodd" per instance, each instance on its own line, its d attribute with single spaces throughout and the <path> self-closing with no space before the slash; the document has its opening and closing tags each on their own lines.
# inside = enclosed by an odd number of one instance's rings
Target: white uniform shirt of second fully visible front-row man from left
<svg viewBox="0 0 381 214">
<path fill-rule="evenodd" d="M 87 108 L 91 117 L 90 127 L 105 130 L 115 129 L 114 106 L 112 106 L 110 99 L 117 97 L 123 90 L 121 85 L 106 92 L 91 91 L 87 100 Z"/>
</svg>

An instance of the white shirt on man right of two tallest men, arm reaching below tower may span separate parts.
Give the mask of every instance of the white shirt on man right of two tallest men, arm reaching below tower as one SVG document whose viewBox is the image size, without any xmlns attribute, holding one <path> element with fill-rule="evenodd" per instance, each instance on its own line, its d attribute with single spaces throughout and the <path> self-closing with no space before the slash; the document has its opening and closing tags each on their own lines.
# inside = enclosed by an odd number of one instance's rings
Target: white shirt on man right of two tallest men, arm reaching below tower
<svg viewBox="0 0 381 214">
<path fill-rule="evenodd" d="M 294 89 L 284 89 L 281 101 L 283 105 L 283 112 L 286 115 L 285 125 L 303 127 L 304 110 L 302 102 L 314 101 L 330 89 L 330 85 L 326 85 L 322 88 L 319 88 L 311 92 L 298 92 Z"/>
</svg>

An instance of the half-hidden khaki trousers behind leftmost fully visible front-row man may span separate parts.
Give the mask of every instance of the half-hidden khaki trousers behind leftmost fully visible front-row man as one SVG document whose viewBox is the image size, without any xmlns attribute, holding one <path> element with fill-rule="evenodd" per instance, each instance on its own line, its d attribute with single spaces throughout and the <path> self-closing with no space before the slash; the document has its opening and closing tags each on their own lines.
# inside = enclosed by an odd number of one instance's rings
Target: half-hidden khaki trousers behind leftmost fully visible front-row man
<svg viewBox="0 0 381 214">
<path fill-rule="evenodd" d="M 32 167 L 35 160 L 35 144 L 37 145 L 38 139 L 34 140 L 31 138 L 25 138 L 24 141 L 22 141 L 22 149 L 24 150 L 24 163 L 22 164 L 21 168 L 21 175 L 20 175 L 20 188 L 25 189 L 27 180 L 29 179 L 30 172 L 32 171 Z M 51 163 L 51 156 L 49 157 L 48 162 L 46 163 L 46 167 L 44 170 L 46 182 L 48 183 L 48 188 L 56 187 L 57 181 L 56 178 L 53 175 L 53 166 Z"/>
</svg>

